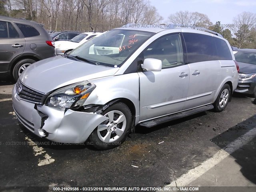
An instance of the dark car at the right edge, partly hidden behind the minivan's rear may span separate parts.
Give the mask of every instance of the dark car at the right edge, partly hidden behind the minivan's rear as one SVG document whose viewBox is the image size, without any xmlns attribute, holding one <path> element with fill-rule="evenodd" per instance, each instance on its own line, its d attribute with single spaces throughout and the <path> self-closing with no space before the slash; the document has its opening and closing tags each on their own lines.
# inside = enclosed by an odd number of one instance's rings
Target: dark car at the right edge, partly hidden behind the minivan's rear
<svg viewBox="0 0 256 192">
<path fill-rule="evenodd" d="M 256 49 L 237 49 L 233 53 L 240 69 L 235 92 L 256 97 Z"/>
</svg>

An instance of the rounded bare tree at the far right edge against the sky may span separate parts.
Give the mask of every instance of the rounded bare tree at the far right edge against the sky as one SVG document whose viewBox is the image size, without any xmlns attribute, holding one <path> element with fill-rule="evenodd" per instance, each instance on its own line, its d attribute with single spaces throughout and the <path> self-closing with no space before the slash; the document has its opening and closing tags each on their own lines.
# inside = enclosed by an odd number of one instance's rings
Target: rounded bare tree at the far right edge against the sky
<svg viewBox="0 0 256 192">
<path fill-rule="evenodd" d="M 241 48 L 246 39 L 250 36 L 251 29 L 256 24 L 256 15 L 250 12 L 243 12 L 233 19 L 230 30 L 238 40 L 238 47 Z"/>
</svg>

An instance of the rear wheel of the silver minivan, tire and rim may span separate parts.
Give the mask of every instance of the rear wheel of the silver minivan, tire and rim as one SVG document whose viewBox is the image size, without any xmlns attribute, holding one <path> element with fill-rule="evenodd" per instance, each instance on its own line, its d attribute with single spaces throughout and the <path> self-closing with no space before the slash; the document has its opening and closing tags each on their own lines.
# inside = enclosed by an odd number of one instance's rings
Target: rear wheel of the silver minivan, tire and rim
<svg viewBox="0 0 256 192">
<path fill-rule="evenodd" d="M 222 112 L 228 105 L 228 102 L 230 101 L 230 96 L 230 86 L 228 84 L 224 84 L 224 86 L 220 90 L 220 93 L 218 94 L 216 101 L 214 102 L 214 111 Z"/>
</svg>

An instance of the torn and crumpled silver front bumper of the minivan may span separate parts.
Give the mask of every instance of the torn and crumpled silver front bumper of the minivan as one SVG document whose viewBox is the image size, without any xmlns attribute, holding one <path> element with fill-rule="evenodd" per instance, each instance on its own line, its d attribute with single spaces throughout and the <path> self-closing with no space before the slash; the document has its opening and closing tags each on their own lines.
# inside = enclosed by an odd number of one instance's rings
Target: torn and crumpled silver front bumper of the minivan
<svg viewBox="0 0 256 192">
<path fill-rule="evenodd" d="M 16 85 L 15 85 L 16 86 Z M 107 117 L 96 113 L 56 110 L 21 100 L 12 90 L 12 104 L 18 120 L 37 136 L 54 142 L 82 143 Z"/>
</svg>

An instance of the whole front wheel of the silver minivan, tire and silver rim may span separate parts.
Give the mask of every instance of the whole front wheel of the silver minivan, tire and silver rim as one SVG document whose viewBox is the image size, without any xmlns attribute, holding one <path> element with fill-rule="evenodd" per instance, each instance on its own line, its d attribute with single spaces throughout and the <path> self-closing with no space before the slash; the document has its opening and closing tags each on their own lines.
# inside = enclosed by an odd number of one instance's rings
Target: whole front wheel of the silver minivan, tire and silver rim
<svg viewBox="0 0 256 192">
<path fill-rule="evenodd" d="M 108 150 L 122 144 L 132 127 L 132 113 L 122 102 L 108 107 L 102 115 L 110 120 L 102 122 L 89 136 L 91 145 L 98 150 Z M 119 123 L 116 122 L 119 119 Z"/>
</svg>

